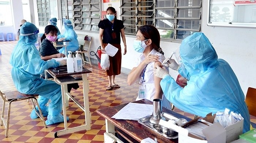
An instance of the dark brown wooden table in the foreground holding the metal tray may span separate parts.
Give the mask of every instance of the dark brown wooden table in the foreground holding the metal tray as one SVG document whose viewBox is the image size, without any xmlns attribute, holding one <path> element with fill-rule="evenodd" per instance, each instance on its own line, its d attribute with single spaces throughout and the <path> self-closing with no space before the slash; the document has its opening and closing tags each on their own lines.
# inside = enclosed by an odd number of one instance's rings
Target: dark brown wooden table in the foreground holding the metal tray
<svg viewBox="0 0 256 143">
<path fill-rule="evenodd" d="M 139 100 L 133 103 L 153 104 L 150 100 L 147 100 L 147 99 Z M 103 116 L 106 120 L 106 133 L 104 133 L 105 142 L 106 142 L 106 138 L 108 138 L 106 137 L 106 135 L 110 135 L 112 138 L 114 138 L 115 132 L 117 132 L 118 134 L 121 134 L 121 136 L 123 136 L 125 139 L 127 139 L 131 143 L 141 142 L 142 139 L 145 139 L 148 137 L 151 139 L 156 138 L 158 143 L 178 143 L 178 139 L 167 139 L 164 136 L 158 134 L 157 132 L 154 132 L 153 130 L 143 126 L 138 121 L 120 120 L 120 119 L 116 120 L 114 118 L 111 118 L 113 115 L 115 115 L 119 110 L 121 110 L 127 104 L 128 103 L 97 110 L 97 113 Z M 164 107 L 162 111 L 172 114 L 177 118 L 185 118 L 188 121 L 191 120 L 186 116 L 183 116 L 174 111 L 168 110 Z"/>
</svg>

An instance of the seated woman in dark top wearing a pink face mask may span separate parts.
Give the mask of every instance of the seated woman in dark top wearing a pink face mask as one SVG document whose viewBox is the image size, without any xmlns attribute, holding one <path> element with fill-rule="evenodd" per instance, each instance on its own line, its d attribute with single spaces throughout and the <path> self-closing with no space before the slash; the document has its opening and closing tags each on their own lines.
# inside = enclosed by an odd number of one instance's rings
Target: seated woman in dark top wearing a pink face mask
<svg viewBox="0 0 256 143">
<path fill-rule="evenodd" d="M 56 41 L 57 39 L 57 32 L 58 32 L 58 29 L 54 25 L 47 25 L 45 27 L 45 33 L 41 37 L 42 47 L 39 48 L 39 52 L 42 60 L 46 61 L 52 58 L 65 57 L 65 55 L 63 53 L 59 53 L 58 49 L 56 49 L 52 44 L 52 41 Z M 42 76 L 44 78 L 45 75 L 42 74 Z M 47 75 L 47 76 L 50 76 L 50 75 Z M 79 88 L 78 83 L 68 84 L 69 93 L 72 88 L 78 89 Z"/>
</svg>

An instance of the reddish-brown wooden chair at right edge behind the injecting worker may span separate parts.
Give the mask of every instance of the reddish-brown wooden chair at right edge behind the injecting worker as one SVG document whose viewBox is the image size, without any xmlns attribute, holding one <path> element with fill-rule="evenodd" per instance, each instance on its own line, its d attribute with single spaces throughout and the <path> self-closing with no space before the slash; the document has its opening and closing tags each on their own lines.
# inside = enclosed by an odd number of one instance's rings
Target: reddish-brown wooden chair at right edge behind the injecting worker
<svg viewBox="0 0 256 143">
<path fill-rule="evenodd" d="M 246 93 L 246 97 L 245 97 L 245 103 L 248 107 L 249 110 L 249 114 L 252 116 L 256 116 L 256 89 L 249 87 Z M 252 127 L 256 128 L 256 124 L 252 123 Z"/>
</svg>

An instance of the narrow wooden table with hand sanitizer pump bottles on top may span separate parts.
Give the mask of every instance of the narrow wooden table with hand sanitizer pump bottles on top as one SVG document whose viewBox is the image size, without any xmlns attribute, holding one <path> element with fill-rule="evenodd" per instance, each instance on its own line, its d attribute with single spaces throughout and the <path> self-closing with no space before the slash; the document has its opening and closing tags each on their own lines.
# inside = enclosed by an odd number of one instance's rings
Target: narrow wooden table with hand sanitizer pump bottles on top
<svg viewBox="0 0 256 143">
<path fill-rule="evenodd" d="M 91 114 L 89 110 L 89 98 L 88 98 L 88 92 L 89 92 L 89 82 L 87 80 L 87 73 L 91 73 L 88 69 L 83 69 L 82 72 L 61 72 L 56 73 L 53 72 L 52 69 L 45 70 L 45 75 L 49 73 L 53 78 L 54 81 L 57 84 L 61 85 L 61 96 L 62 96 L 62 105 L 63 105 L 63 116 L 64 116 L 64 130 L 60 130 L 55 132 L 54 137 L 57 138 L 61 135 L 66 135 L 70 133 L 74 133 L 77 131 L 83 131 L 83 130 L 91 130 Z M 82 74 L 82 79 L 74 79 L 69 75 L 76 75 L 76 74 Z M 45 79 L 47 79 L 47 76 L 45 76 Z M 69 83 L 83 83 L 83 99 L 84 99 L 84 106 L 82 106 L 75 98 L 71 96 L 71 94 L 68 93 L 67 84 Z M 71 98 L 74 103 L 78 105 L 79 108 L 81 108 L 84 111 L 84 119 L 85 124 L 68 128 L 67 127 L 67 114 L 66 114 L 66 106 L 68 105 L 69 98 Z M 66 106 L 65 106 L 66 105 Z"/>
</svg>

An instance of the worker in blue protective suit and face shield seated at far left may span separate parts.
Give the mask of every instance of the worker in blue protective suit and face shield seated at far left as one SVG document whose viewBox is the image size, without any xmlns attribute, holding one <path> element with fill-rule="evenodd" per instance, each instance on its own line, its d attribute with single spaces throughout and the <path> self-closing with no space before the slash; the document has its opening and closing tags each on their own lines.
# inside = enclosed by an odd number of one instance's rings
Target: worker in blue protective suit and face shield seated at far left
<svg viewBox="0 0 256 143">
<path fill-rule="evenodd" d="M 41 60 L 39 51 L 35 47 L 38 38 L 38 28 L 34 24 L 26 22 L 20 28 L 20 39 L 11 54 L 11 75 L 17 90 L 23 94 L 39 94 L 38 103 L 44 116 L 47 116 L 46 124 L 64 122 L 62 110 L 61 87 L 59 84 L 40 78 L 45 69 L 65 65 L 65 60 Z M 45 104 L 48 103 L 46 107 Z M 32 119 L 38 118 L 33 111 Z"/>
</svg>

